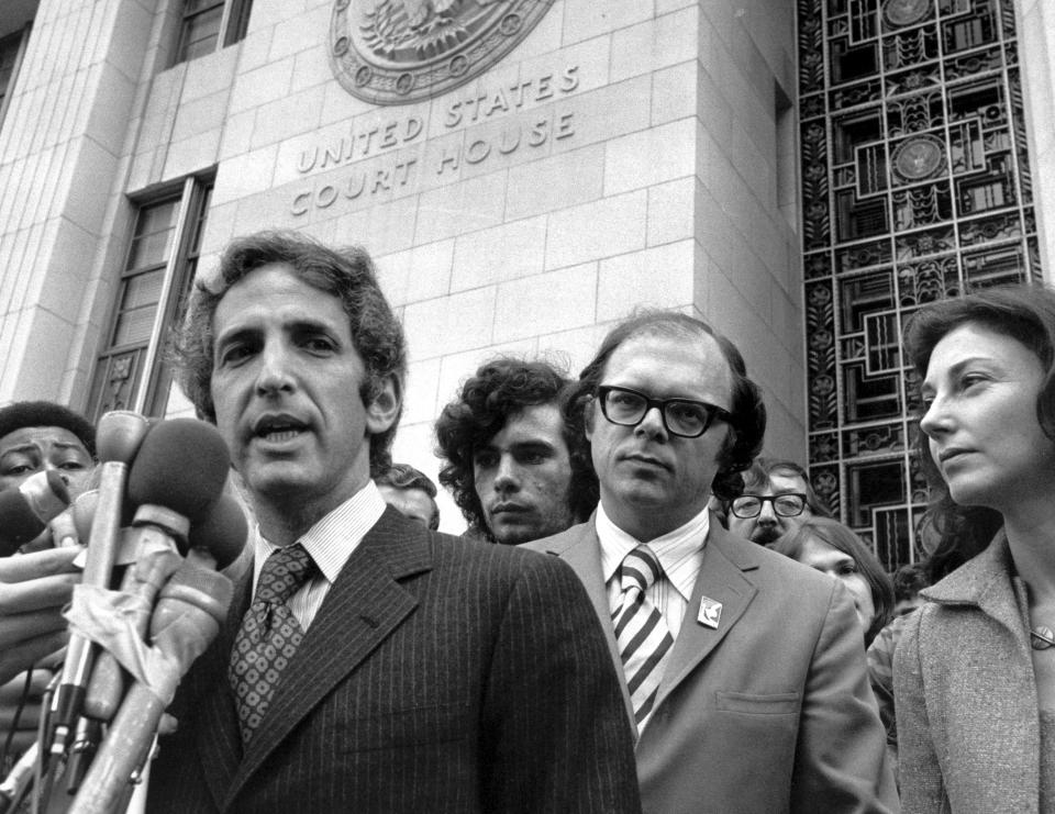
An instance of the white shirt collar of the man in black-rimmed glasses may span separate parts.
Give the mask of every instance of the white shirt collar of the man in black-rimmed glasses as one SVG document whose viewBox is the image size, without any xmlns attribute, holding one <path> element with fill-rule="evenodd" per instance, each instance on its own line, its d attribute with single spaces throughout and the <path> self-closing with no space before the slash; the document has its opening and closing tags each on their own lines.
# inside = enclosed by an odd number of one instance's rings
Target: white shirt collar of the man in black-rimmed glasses
<svg viewBox="0 0 1055 814">
<path fill-rule="evenodd" d="M 608 516 L 603 504 L 598 504 L 595 522 L 597 536 L 601 542 L 601 572 L 604 575 L 604 584 L 608 584 L 615 577 L 623 558 L 640 546 L 642 540 L 617 526 Z M 686 602 L 692 594 L 710 529 L 710 511 L 704 506 L 703 511 L 688 523 L 647 540 L 648 548 L 659 558 L 667 580 Z"/>
</svg>

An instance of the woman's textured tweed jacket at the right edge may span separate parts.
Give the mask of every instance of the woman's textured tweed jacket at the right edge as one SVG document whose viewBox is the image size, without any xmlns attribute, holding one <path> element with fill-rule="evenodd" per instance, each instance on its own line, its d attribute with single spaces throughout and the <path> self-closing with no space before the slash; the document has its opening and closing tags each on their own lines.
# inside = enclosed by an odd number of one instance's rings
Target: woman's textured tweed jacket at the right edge
<svg viewBox="0 0 1055 814">
<path fill-rule="evenodd" d="M 1025 595 L 1007 538 L 921 593 L 893 656 L 907 812 L 1040 809 L 1041 734 Z"/>
</svg>

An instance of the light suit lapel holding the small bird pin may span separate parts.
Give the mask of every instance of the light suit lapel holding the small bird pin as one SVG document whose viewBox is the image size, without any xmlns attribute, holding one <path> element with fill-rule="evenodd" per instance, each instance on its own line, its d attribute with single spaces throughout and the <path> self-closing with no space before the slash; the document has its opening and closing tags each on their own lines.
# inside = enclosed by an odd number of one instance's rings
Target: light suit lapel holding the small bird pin
<svg viewBox="0 0 1055 814">
<path fill-rule="evenodd" d="M 712 513 L 703 562 L 681 621 L 681 631 L 659 682 L 656 706 L 725 638 L 747 610 L 758 589 L 744 571 L 754 568 L 757 562 L 751 549 L 731 538 Z M 709 627 L 697 618 L 703 598 L 722 605 L 718 627 Z"/>
</svg>

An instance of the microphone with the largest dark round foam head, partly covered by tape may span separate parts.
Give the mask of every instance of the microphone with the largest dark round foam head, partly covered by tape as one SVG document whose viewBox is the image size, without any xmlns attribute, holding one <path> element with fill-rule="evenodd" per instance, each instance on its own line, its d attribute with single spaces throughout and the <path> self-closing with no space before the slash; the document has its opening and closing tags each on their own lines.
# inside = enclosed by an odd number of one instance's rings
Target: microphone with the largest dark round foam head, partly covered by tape
<svg viewBox="0 0 1055 814">
<path fill-rule="evenodd" d="M 185 460 L 188 450 L 193 451 L 190 461 Z M 129 495 L 140 504 L 132 521 L 136 562 L 125 571 L 121 584 L 122 592 L 140 598 L 143 609 L 153 607 L 158 590 L 179 568 L 180 556 L 188 553 L 191 544 L 214 546 L 216 559 L 230 557 L 230 561 L 237 556 L 237 551 L 231 555 L 226 550 L 231 548 L 230 509 L 218 499 L 227 477 L 227 447 L 219 431 L 193 419 L 162 422 L 143 442 L 129 472 Z M 220 506 L 223 516 L 214 517 Z M 241 515 L 241 509 L 235 509 Z M 245 528 L 244 518 L 242 527 Z M 188 538 L 189 534 L 201 536 L 202 528 L 202 540 Z M 141 638 L 146 636 L 148 625 L 148 611 L 136 615 L 135 628 Z M 111 721 L 123 694 L 124 670 L 113 655 L 103 650 L 88 683 L 85 714 Z"/>
</svg>

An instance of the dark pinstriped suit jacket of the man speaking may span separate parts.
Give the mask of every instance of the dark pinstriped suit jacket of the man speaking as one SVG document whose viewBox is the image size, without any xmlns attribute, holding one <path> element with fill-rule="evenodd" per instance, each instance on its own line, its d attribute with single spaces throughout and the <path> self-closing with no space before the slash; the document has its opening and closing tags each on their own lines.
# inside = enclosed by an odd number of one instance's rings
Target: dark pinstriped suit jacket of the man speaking
<svg viewBox="0 0 1055 814">
<path fill-rule="evenodd" d="M 619 679 L 570 568 L 388 509 L 243 754 L 227 656 L 248 577 L 174 703 L 152 812 L 638 812 Z"/>
</svg>

